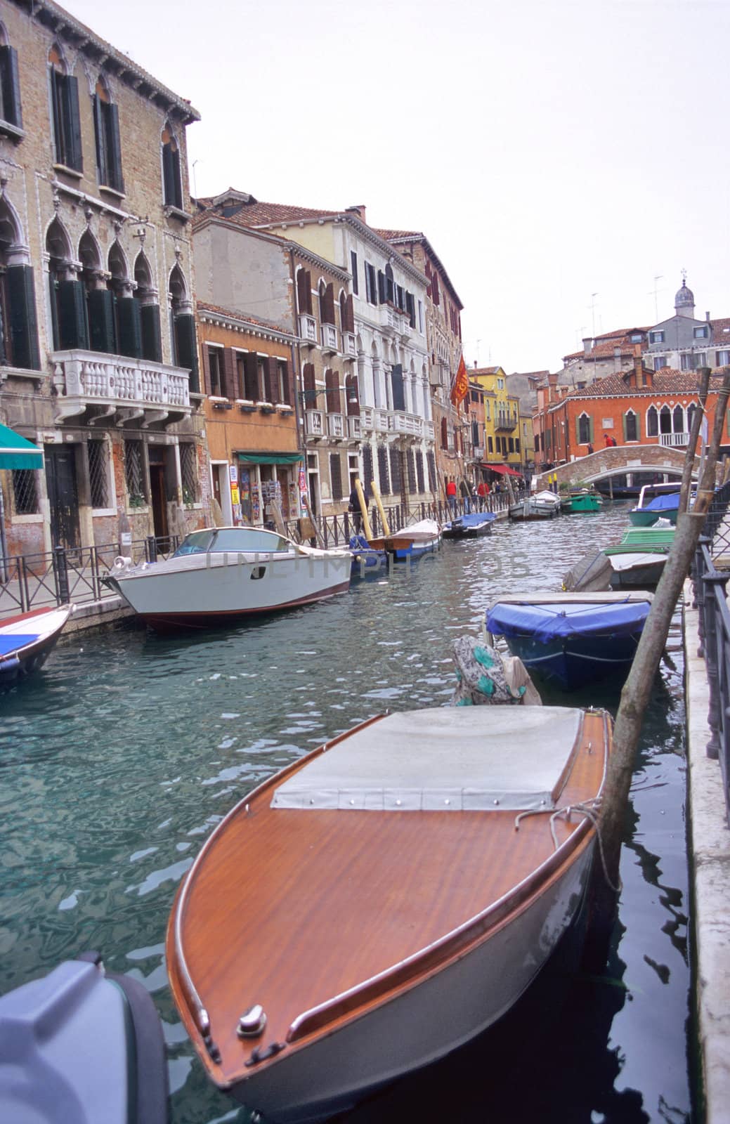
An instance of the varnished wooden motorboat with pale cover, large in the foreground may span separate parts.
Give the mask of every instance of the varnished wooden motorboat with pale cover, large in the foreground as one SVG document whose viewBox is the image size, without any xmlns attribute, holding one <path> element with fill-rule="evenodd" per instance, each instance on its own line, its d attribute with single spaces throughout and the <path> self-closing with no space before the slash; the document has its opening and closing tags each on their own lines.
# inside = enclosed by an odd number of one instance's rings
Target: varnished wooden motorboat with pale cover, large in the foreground
<svg viewBox="0 0 730 1124">
<path fill-rule="evenodd" d="M 313 1121 L 495 1023 L 580 909 L 610 741 L 603 711 L 403 711 L 245 797 L 168 927 L 208 1076 Z"/>
</svg>

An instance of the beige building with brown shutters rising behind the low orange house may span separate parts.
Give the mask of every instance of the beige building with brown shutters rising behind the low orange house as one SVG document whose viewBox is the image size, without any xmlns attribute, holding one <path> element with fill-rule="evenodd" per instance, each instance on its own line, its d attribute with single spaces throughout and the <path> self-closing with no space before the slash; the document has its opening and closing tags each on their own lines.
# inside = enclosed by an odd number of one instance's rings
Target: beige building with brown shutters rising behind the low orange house
<svg viewBox="0 0 730 1124">
<path fill-rule="evenodd" d="M 251 316 L 247 309 L 255 308 L 256 319 L 265 317 L 288 334 L 294 345 L 295 381 L 287 399 L 292 414 L 286 419 L 281 411 L 259 413 L 250 415 L 247 424 L 258 425 L 255 447 L 279 457 L 270 463 L 278 465 L 272 471 L 282 478 L 285 491 L 295 475 L 298 480 L 298 466 L 295 473 L 290 456 L 291 450 L 299 447 L 301 483 L 313 513 L 339 515 L 348 507 L 351 481 L 360 471 L 351 277 L 283 235 L 253 230 L 249 225 L 251 198 L 228 190 L 197 200 L 198 297 L 235 309 L 244 318 Z M 241 387 L 237 390 L 243 393 Z M 241 444 L 242 434 L 236 439 L 237 450 L 249 447 L 250 442 Z M 229 448 L 234 460 L 240 459 L 236 448 Z M 259 477 L 262 471 L 258 470 Z M 253 472 L 252 479 L 255 475 Z M 289 509 L 294 518 L 294 504 Z"/>
</svg>

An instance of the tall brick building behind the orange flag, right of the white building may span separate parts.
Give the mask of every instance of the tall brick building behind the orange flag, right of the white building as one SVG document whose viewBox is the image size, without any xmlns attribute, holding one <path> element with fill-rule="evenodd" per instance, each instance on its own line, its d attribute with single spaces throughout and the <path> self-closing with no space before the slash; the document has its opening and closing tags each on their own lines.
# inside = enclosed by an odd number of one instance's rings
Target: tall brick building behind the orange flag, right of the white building
<svg viewBox="0 0 730 1124">
<path fill-rule="evenodd" d="M 463 305 L 443 263 L 424 234 L 414 230 L 377 233 L 413 262 L 427 282 L 425 315 L 429 381 L 439 482 L 442 488 L 449 477 L 453 477 L 457 481 L 474 482 L 475 443 L 469 418 L 470 400 L 467 396 L 459 406 L 454 406 L 451 400 L 451 390 L 463 351 L 461 342 Z"/>
</svg>

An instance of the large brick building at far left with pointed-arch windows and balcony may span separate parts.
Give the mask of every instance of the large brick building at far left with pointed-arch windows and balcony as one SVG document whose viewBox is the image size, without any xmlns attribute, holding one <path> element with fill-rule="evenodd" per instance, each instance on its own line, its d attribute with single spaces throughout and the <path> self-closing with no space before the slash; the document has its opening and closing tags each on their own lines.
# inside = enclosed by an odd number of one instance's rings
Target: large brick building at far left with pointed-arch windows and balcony
<svg viewBox="0 0 730 1124">
<path fill-rule="evenodd" d="M 2 474 L 6 550 L 197 525 L 198 114 L 52 0 L 0 0 L 0 413 L 44 452 Z"/>
</svg>

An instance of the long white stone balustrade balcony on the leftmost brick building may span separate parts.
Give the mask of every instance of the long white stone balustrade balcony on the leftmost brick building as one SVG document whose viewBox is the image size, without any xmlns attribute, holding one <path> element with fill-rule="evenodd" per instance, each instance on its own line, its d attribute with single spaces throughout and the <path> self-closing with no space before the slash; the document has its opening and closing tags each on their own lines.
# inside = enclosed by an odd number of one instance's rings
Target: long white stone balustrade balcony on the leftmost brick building
<svg viewBox="0 0 730 1124">
<path fill-rule="evenodd" d="M 192 410 L 190 377 L 182 368 L 79 348 L 53 352 L 51 361 L 57 422 L 87 415 L 118 425 L 135 418 L 143 426 L 171 425 Z"/>
</svg>

